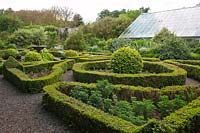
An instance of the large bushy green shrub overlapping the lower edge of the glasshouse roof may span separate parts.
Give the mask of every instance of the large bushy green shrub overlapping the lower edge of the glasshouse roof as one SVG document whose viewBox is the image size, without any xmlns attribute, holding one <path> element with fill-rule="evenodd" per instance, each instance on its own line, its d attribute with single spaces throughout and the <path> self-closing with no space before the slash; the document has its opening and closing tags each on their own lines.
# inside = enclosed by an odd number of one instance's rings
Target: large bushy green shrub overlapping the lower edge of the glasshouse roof
<svg viewBox="0 0 200 133">
<path fill-rule="evenodd" d="M 167 29 L 163 29 L 160 34 L 158 34 L 158 37 L 160 38 L 156 39 L 157 36 L 155 36 L 154 40 L 162 43 L 162 45 L 158 47 L 160 59 L 188 59 L 190 57 L 190 51 L 185 42 L 176 37 L 176 35 L 170 33 Z"/>
</svg>

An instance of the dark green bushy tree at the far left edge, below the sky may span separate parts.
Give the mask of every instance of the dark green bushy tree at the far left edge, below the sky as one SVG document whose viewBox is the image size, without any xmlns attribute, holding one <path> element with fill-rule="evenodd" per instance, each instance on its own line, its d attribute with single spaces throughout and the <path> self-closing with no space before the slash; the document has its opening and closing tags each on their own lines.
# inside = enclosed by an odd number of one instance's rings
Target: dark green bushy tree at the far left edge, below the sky
<svg viewBox="0 0 200 133">
<path fill-rule="evenodd" d="M 0 15 L 0 32 L 14 32 L 22 26 L 22 21 L 17 18 Z"/>
</svg>

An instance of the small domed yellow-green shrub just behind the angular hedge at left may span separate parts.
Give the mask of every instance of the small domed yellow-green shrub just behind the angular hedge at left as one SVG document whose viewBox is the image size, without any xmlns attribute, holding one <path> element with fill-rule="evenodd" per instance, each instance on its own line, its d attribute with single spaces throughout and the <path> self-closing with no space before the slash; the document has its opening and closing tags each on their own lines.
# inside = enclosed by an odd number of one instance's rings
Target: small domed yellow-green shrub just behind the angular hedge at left
<svg viewBox="0 0 200 133">
<path fill-rule="evenodd" d="M 29 51 L 24 58 L 25 62 L 30 62 L 30 61 L 41 61 L 42 60 L 42 56 L 35 51 Z"/>
</svg>

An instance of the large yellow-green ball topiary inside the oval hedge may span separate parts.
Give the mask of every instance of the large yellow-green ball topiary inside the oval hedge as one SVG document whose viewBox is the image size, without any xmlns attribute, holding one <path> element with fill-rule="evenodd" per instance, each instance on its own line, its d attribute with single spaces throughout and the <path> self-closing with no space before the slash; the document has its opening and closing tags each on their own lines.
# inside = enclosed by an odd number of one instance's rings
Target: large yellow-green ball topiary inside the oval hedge
<svg viewBox="0 0 200 133">
<path fill-rule="evenodd" d="M 138 73 L 143 68 L 142 57 L 137 50 L 122 47 L 113 53 L 111 68 L 115 73 Z"/>
</svg>

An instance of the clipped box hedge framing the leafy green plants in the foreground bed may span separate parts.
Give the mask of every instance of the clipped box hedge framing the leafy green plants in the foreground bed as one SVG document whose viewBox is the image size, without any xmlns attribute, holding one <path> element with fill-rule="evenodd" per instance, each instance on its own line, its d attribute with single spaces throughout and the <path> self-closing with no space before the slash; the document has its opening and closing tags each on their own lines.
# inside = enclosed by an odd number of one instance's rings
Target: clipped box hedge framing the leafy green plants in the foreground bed
<svg viewBox="0 0 200 133">
<path fill-rule="evenodd" d="M 198 93 L 200 91 L 200 86 L 170 86 L 163 89 L 156 89 L 150 87 L 144 88 L 114 85 L 113 94 L 117 96 L 118 100 L 126 100 L 127 102 L 130 102 L 130 98 L 136 97 L 139 101 L 146 98 L 152 100 L 155 104 L 158 102 L 160 97 L 164 95 L 169 96 L 169 99 L 173 100 L 177 94 L 183 94 L 188 99 L 189 97 L 192 97 L 192 94 L 196 94 L 195 97 L 189 99 L 189 102 L 193 100 L 191 103 L 184 105 L 183 108 L 180 107 L 178 111 L 169 114 L 167 117 L 164 117 L 163 120 L 152 119 L 141 125 L 133 124 L 132 122 L 126 120 L 126 117 L 120 118 L 119 116 L 110 115 L 108 112 L 106 113 L 101 109 L 97 109 L 99 107 L 91 106 L 90 103 L 88 103 L 90 104 L 88 105 L 81 101 L 81 97 L 78 97 L 78 99 L 73 98 L 70 92 L 77 89 L 75 86 L 78 86 L 79 89 L 82 87 L 91 92 L 97 90 L 97 86 L 95 84 L 75 82 L 56 83 L 44 88 L 43 105 L 47 110 L 54 112 L 67 123 L 72 122 L 84 132 L 153 132 L 152 128 L 156 127 L 156 131 L 160 131 L 161 127 L 164 126 L 167 130 L 163 130 L 163 132 L 167 133 L 169 129 L 174 126 L 170 124 L 170 122 L 173 121 L 170 118 L 179 117 L 181 111 L 185 112 L 185 114 L 179 118 L 181 123 L 176 123 L 176 128 L 173 129 L 173 132 L 184 132 L 184 130 L 185 132 L 190 132 L 195 131 L 198 128 L 197 126 L 194 126 L 194 124 L 198 122 L 200 117 L 200 99 L 196 99 L 196 97 L 200 95 L 200 93 Z M 170 109 L 169 106 L 167 108 Z M 188 112 L 186 109 L 190 109 L 190 111 L 193 112 Z M 140 111 L 142 112 L 143 110 L 141 109 Z M 187 120 L 187 123 L 185 120 Z"/>
</svg>

